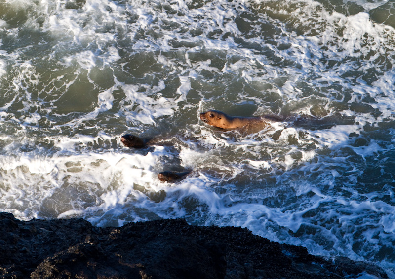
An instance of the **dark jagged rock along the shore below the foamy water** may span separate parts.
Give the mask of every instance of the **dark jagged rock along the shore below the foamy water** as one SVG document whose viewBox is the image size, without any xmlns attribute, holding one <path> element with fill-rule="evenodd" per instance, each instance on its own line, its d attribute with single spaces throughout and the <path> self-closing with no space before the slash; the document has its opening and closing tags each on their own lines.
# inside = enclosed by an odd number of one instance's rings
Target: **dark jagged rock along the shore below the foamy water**
<svg viewBox="0 0 395 279">
<path fill-rule="evenodd" d="M 341 279 L 380 267 L 326 260 L 235 227 L 182 219 L 95 227 L 83 219 L 20 221 L 0 213 L 1 279 Z M 374 277 L 371 277 L 374 278 Z"/>
</svg>

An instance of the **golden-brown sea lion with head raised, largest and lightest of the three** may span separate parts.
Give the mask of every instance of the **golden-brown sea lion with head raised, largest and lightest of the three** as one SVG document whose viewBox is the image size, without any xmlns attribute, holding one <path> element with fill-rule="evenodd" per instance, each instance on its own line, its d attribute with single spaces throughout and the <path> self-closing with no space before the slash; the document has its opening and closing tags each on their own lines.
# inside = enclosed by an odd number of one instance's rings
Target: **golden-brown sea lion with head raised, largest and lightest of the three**
<svg viewBox="0 0 395 279">
<path fill-rule="evenodd" d="M 200 113 L 200 119 L 208 125 L 222 129 L 237 129 L 245 126 L 262 126 L 268 125 L 268 122 L 283 121 L 283 118 L 276 115 L 265 115 L 258 117 L 240 117 L 231 116 L 222 111 L 209 110 Z"/>
</svg>

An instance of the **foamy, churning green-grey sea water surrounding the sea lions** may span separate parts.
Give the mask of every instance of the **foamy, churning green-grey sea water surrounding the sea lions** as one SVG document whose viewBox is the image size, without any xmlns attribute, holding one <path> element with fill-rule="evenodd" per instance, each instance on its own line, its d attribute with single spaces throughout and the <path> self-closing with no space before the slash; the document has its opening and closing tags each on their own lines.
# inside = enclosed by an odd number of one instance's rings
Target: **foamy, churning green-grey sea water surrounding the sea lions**
<svg viewBox="0 0 395 279">
<path fill-rule="evenodd" d="M 393 0 L 0 0 L 0 210 L 241 226 L 393 276 L 394 28 Z"/>
</svg>

